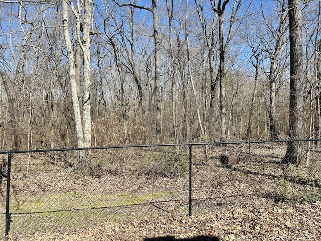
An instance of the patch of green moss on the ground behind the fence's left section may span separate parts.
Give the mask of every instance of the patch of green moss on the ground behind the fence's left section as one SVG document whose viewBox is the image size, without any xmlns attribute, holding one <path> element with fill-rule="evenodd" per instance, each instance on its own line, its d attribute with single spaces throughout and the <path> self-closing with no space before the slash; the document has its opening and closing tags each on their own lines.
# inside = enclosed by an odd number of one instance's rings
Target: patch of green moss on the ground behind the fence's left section
<svg viewBox="0 0 321 241">
<path fill-rule="evenodd" d="M 106 221 L 135 220 L 139 217 L 140 207 L 128 209 L 128 206 L 159 200 L 171 194 L 172 191 L 144 195 L 67 192 L 16 199 L 11 202 L 11 230 L 19 233 L 54 231 L 57 228 L 73 230 Z"/>
</svg>

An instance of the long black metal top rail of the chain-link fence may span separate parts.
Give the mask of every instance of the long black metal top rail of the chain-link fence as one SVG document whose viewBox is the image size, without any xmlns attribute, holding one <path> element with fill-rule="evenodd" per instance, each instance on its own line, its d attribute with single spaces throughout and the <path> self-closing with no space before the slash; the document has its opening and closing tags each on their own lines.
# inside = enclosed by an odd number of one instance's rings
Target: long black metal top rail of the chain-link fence
<svg viewBox="0 0 321 241">
<path fill-rule="evenodd" d="M 141 148 L 141 147 L 171 147 L 171 146 L 201 146 L 201 145 L 227 145 L 227 144 L 259 144 L 259 143 L 282 143 L 282 142 L 311 142 L 321 141 L 321 139 L 296 139 L 296 140 L 266 140 L 266 141 L 239 141 L 239 142 L 204 142 L 204 143 L 178 143 L 178 144 L 146 144 L 146 145 L 125 145 L 125 146 L 105 146 L 105 147 L 87 147 L 87 148 L 60 148 L 60 149 L 39 149 L 22 151 L 4 151 L 0 154 L 15 153 L 39 153 L 55 151 L 80 151 L 80 150 L 98 150 L 98 149 L 121 149 L 121 148 Z"/>
</svg>

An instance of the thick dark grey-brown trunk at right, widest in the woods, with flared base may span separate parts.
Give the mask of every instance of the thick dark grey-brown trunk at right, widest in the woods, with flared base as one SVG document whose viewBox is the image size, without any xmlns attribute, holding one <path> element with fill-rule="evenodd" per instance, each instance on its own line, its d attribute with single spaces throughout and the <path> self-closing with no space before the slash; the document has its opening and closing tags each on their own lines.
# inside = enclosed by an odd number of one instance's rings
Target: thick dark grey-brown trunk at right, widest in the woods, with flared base
<svg viewBox="0 0 321 241">
<path fill-rule="evenodd" d="M 289 104 L 289 139 L 302 139 L 303 129 L 303 53 L 302 20 L 300 0 L 289 0 L 289 35 L 290 35 L 290 104 Z M 303 159 L 303 145 L 288 142 L 282 163 L 299 164 Z"/>
</svg>

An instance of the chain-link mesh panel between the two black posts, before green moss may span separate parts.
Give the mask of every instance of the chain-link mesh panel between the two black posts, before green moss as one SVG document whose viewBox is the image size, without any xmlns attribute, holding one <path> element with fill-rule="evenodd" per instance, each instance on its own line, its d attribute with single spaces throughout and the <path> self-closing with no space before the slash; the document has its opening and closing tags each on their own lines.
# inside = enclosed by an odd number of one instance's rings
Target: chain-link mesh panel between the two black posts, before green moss
<svg viewBox="0 0 321 241">
<path fill-rule="evenodd" d="M 184 149 L 97 149 L 85 160 L 79 150 L 13 154 L 10 230 L 70 231 L 187 206 Z"/>
</svg>

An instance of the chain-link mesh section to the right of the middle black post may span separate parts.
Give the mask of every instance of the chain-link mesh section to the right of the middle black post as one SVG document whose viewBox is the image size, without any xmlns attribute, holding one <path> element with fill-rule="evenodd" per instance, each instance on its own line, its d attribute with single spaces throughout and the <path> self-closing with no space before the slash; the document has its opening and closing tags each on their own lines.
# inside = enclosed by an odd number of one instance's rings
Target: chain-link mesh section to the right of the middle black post
<svg viewBox="0 0 321 241">
<path fill-rule="evenodd" d="M 258 198 L 286 202 L 319 200 L 320 144 L 300 141 L 291 145 L 301 148 L 295 165 L 283 161 L 290 153 L 286 142 L 209 145 L 207 165 L 201 165 L 206 156 L 194 149 L 197 158 L 193 159 L 193 212 L 247 205 Z M 230 158 L 228 161 L 237 158 L 238 163 L 226 165 L 222 157 Z"/>
</svg>

